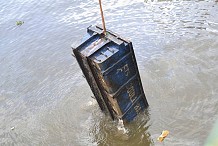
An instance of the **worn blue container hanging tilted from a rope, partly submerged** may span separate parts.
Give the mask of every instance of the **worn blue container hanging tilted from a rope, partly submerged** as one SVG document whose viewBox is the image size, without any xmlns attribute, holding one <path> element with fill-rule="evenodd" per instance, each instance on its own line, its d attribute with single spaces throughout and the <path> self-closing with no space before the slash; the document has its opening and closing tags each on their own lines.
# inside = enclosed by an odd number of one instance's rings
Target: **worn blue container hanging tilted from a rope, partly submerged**
<svg viewBox="0 0 218 146">
<path fill-rule="evenodd" d="M 99 26 L 90 26 L 73 53 L 102 111 L 132 121 L 148 107 L 132 43 Z"/>
</svg>

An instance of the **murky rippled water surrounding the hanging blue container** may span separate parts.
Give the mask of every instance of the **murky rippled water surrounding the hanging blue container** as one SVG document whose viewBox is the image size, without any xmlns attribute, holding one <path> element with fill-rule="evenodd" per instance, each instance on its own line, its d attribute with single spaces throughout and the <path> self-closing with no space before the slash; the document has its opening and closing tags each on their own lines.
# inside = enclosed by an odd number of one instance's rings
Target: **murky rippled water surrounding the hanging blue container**
<svg viewBox="0 0 218 146">
<path fill-rule="evenodd" d="M 133 42 L 150 104 L 126 132 L 101 113 L 71 56 L 101 24 L 98 1 L 0 6 L 0 145 L 204 144 L 218 118 L 218 2 L 103 1 L 107 28 Z"/>
</svg>

